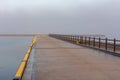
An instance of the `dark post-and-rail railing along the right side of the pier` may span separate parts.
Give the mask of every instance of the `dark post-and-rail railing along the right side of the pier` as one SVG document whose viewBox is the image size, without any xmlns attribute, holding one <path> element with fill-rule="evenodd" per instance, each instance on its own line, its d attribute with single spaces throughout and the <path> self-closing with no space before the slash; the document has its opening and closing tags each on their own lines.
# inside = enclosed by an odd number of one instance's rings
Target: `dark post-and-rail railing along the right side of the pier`
<svg viewBox="0 0 120 80">
<path fill-rule="evenodd" d="M 72 42 L 78 45 L 88 46 L 95 49 L 100 49 L 109 52 L 120 53 L 120 40 L 108 39 L 105 37 L 95 36 L 81 36 L 81 35 L 60 35 L 60 34 L 49 34 L 49 36 Z"/>
</svg>

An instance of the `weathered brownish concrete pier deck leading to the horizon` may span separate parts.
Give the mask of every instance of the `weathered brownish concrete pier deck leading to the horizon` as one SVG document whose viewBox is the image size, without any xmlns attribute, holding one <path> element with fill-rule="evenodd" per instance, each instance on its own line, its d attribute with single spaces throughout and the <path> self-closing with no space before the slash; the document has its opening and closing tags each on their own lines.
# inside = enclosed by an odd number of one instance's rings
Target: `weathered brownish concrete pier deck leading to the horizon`
<svg viewBox="0 0 120 80">
<path fill-rule="evenodd" d="M 34 80 L 120 80 L 120 58 L 38 36 Z"/>
</svg>

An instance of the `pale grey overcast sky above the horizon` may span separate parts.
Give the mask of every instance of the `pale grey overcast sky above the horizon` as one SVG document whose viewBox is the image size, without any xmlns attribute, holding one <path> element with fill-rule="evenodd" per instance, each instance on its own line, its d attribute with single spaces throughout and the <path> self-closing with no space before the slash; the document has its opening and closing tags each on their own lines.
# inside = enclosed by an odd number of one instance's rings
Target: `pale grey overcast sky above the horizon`
<svg viewBox="0 0 120 80">
<path fill-rule="evenodd" d="M 0 33 L 120 36 L 119 0 L 0 0 Z"/>
</svg>

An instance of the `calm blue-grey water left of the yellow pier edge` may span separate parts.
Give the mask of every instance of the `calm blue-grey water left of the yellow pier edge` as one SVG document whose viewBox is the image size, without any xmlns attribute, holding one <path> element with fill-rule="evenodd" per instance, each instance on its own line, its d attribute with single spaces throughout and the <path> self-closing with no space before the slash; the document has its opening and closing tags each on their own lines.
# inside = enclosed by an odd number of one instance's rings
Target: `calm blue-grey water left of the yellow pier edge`
<svg viewBox="0 0 120 80">
<path fill-rule="evenodd" d="M 33 37 L 0 37 L 0 80 L 12 80 Z"/>
</svg>

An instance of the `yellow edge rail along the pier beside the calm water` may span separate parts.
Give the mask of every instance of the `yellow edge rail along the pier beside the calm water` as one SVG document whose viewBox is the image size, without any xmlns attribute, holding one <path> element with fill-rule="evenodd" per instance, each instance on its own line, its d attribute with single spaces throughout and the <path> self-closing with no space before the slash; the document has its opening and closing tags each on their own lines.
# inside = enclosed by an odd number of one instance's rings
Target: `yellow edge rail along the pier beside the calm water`
<svg viewBox="0 0 120 80">
<path fill-rule="evenodd" d="M 24 70 L 27 66 L 27 62 L 28 62 L 28 59 L 29 59 L 29 56 L 30 56 L 30 53 L 31 53 L 31 50 L 32 50 L 32 47 L 33 45 L 35 44 L 36 42 L 36 36 L 34 36 L 31 44 L 30 44 L 30 47 L 28 48 L 16 74 L 15 74 L 15 77 L 13 78 L 13 80 L 21 80 L 22 79 L 22 76 L 23 76 L 23 73 L 24 73 Z"/>
</svg>

